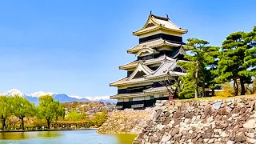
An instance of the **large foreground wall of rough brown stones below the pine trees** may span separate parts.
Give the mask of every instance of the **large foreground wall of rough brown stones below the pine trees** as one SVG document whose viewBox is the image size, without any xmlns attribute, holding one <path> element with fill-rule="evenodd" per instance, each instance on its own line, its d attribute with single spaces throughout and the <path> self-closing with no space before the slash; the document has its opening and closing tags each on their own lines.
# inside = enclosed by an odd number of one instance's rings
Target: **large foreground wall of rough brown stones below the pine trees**
<svg viewBox="0 0 256 144">
<path fill-rule="evenodd" d="M 256 97 L 158 101 L 134 144 L 256 143 Z"/>
</svg>

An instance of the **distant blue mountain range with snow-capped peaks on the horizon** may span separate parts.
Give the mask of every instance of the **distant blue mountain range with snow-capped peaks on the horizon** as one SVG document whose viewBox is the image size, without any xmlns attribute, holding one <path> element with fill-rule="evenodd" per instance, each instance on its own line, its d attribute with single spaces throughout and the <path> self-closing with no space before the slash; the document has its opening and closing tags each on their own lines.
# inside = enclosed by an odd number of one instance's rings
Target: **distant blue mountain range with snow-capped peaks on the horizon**
<svg viewBox="0 0 256 144">
<path fill-rule="evenodd" d="M 30 102 L 34 102 L 36 105 L 38 105 L 38 98 L 50 94 L 51 96 L 54 97 L 55 101 L 59 102 L 110 102 L 110 103 L 116 103 L 117 101 L 114 99 L 110 99 L 109 96 L 103 96 L 103 97 L 80 97 L 80 96 L 69 96 L 66 94 L 57 94 L 57 93 L 51 93 L 51 92 L 43 92 L 43 91 L 38 91 L 33 94 L 24 94 L 20 90 L 13 89 L 6 91 L 0 95 L 6 95 L 6 96 L 14 96 L 15 94 L 18 94 L 21 97 L 24 97 L 28 99 Z"/>
</svg>

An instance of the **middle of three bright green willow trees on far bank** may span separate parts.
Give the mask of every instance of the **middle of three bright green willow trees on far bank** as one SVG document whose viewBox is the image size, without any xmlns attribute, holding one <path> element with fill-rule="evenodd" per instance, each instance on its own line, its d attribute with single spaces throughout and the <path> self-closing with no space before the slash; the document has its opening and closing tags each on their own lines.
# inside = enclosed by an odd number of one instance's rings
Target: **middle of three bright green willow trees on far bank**
<svg viewBox="0 0 256 144">
<path fill-rule="evenodd" d="M 35 106 L 26 98 L 14 95 L 12 98 L 12 109 L 14 116 L 22 120 L 22 130 L 24 130 L 24 118 L 34 116 Z"/>
</svg>

